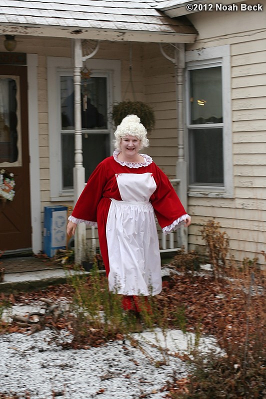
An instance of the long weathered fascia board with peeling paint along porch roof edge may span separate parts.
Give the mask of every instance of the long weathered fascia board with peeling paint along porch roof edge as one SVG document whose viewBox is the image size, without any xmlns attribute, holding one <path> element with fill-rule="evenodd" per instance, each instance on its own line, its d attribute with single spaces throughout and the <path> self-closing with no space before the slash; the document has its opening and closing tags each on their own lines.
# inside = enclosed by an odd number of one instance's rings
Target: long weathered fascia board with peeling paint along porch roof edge
<svg viewBox="0 0 266 399">
<path fill-rule="evenodd" d="M 196 34 L 189 33 L 80 29 L 75 27 L 27 26 L 20 24 L 0 25 L 0 34 L 155 43 L 193 43 L 196 39 Z"/>
</svg>

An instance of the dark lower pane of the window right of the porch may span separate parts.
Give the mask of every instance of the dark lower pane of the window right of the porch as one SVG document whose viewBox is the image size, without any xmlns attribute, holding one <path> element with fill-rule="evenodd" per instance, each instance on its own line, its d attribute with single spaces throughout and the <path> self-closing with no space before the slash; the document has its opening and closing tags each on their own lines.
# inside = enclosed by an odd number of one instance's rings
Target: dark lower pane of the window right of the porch
<svg viewBox="0 0 266 399">
<path fill-rule="evenodd" d="M 223 184 L 222 129 L 189 131 L 190 184 Z"/>
</svg>

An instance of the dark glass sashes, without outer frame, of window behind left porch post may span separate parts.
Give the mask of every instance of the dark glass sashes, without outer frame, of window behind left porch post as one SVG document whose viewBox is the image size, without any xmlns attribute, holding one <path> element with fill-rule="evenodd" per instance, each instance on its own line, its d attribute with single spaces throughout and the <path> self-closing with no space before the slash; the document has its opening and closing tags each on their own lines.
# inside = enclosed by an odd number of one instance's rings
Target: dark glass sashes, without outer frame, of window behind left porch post
<svg viewBox="0 0 266 399">
<path fill-rule="evenodd" d="M 81 80 L 81 127 L 83 166 L 87 180 L 96 165 L 110 155 L 110 131 L 107 123 L 108 75 L 94 74 Z M 74 84 L 73 76 L 61 73 L 60 134 L 62 189 L 73 188 L 74 167 Z"/>
</svg>

